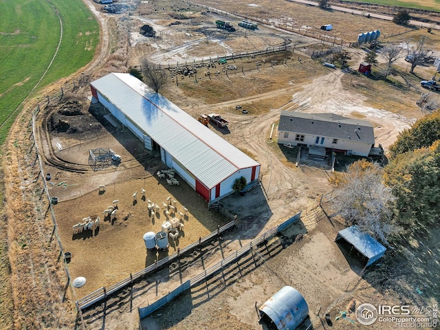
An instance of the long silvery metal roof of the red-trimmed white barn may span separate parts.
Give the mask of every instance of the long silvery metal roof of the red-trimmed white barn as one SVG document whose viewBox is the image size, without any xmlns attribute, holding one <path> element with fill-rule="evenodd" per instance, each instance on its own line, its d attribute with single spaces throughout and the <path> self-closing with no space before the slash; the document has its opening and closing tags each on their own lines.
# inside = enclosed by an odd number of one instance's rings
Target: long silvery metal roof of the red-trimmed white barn
<svg viewBox="0 0 440 330">
<path fill-rule="evenodd" d="M 208 188 L 260 165 L 131 74 L 108 74 L 90 85 Z"/>
</svg>

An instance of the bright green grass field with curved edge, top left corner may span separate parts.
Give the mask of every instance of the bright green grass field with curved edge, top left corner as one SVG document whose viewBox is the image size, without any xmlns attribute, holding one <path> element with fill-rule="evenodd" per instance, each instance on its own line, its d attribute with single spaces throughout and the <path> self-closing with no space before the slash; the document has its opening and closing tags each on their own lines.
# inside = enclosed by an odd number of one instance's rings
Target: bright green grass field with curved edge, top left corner
<svg viewBox="0 0 440 330">
<path fill-rule="evenodd" d="M 81 0 L 58 0 L 53 5 L 63 21 L 63 39 L 37 90 L 87 65 L 99 42 L 98 22 Z M 19 113 L 15 109 L 56 52 L 61 24 L 54 8 L 41 0 L 0 1 L 0 144 Z"/>
</svg>

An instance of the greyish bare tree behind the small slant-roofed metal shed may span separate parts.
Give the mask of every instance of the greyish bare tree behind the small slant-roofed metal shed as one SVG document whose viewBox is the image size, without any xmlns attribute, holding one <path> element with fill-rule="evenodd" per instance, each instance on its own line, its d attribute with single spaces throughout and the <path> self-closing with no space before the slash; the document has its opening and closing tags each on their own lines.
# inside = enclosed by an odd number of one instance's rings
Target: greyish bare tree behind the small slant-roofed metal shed
<svg viewBox="0 0 440 330">
<path fill-rule="evenodd" d="M 344 175 L 333 200 L 335 213 L 347 225 L 358 225 L 360 230 L 388 244 L 388 236 L 395 232 L 391 188 L 382 183 L 382 168 L 365 160 L 355 162 Z"/>
</svg>

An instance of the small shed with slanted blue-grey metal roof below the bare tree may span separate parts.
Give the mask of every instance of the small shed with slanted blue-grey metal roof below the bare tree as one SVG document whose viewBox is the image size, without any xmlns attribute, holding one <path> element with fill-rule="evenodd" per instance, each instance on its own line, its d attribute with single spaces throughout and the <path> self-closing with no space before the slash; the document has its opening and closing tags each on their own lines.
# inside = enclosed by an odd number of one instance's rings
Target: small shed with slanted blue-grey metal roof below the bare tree
<svg viewBox="0 0 440 330">
<path fill-rule="evenodd" d="M 368 259 L 366 266 L 379 260 L 386 251 L 384 245 L 373 239 L 369 234 L 366 234 L 366 232 L 361 232 L 357 225 L 352 225 L 338 232 L 335 241 L 340 239 L 344 239 L 353 245 L 353 248 Z"/>
</svg>

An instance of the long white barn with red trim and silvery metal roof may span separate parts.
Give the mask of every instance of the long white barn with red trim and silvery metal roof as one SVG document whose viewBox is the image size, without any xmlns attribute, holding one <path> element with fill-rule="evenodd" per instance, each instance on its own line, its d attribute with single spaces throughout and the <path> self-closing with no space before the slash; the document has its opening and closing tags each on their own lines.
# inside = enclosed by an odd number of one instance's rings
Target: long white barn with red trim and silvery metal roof
<svg viewBox="0 0 440 330">
<path fill-rule="evenodd" d="M 259 178 L 260 164 L 203 126 L 131 74 L 112 73 L 90 83 L 100 102 L 149 150 L 206 201 L 230 195 L 235 179 Z"/>
</svg>

